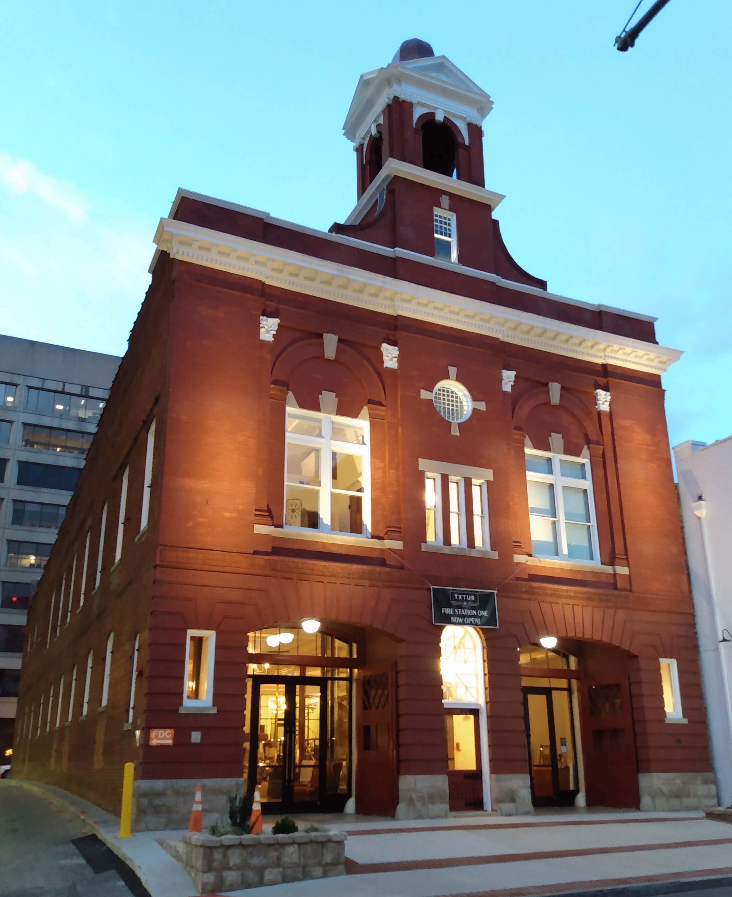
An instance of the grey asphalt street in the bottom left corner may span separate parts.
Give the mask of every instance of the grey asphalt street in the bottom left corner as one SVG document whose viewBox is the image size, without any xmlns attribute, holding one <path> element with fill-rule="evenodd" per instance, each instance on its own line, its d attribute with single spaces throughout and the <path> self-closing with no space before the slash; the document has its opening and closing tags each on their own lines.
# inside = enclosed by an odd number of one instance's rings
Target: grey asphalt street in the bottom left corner
<svg viewBox="0 0 732 897">
<path fill-rule="evenodd" d="M 76 839 L 81 839 L 78 847 Z M 111 851 L 75 816 L 45 797 L 0 781 L 0 897 L 146 893 L 134 876 L 131 890 L 118 865 Z M 122 872 L 129 875 L 126 868 Z"/>
</svg>

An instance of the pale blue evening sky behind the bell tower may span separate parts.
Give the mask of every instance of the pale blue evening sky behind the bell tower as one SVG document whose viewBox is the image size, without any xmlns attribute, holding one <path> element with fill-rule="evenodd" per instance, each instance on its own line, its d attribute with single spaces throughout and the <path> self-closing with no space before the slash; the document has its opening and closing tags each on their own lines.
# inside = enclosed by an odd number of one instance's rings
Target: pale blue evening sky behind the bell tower
<svg viewBox="0 0 732 897">
<path fill-rule="evenodd" d="M 650 0 L 644 0 L 642 11 Z M 428 40 L 495 101 L 486 186 L 549 289 L 659 316 L 672 444 L 732 432 L 732 4 L 6 4 L 4 333 L 123 353 L 177 187 L 327 229 L 355 202 L 358 75 Z"/>
</svg>

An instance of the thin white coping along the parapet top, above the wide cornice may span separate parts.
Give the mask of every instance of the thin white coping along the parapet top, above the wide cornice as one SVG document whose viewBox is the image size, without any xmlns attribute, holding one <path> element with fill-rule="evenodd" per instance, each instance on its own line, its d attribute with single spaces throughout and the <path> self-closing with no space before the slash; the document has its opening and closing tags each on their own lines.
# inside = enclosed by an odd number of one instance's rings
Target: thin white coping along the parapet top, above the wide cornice
<svg viewBox="0 0 732 897">
<path fill-rule="evenodd" d="M 388 160 L 387 160 L 388 164 Z M 404 163 L 406 164 L 406 163 Z M 425 170 L 419 169 L 422 173 L 425 173 Z M 441 175 L 435 175 L 435 177 L 443 177 Z M 448 179 L 451 185 L 456 183 L 460 184 L 461 181 L 455 181 L 454 179 Z M 438 186 L 435 184 L 435 187 Z M 482 188 L 481 188 L 482 189 Z M 455 192 L 454 190 L 452 191 Z M 489 192 L 489 191 L 488 191 Z M 495 196 L 500 196 L 500 194 L 495 194 Z M 622 315 L 624 318 L 636 318 L 639 321 L 649 321 L 651 324 L 655 323 L 658 318 L 653 315 L 644 315 L 640 311 L 628 311 L 626 309 L 618 309 L 613 305 L 604 305 L 603 303 L 595 303 L 595 302 L 585 302 L 581 299 L 571 299 L 569 296 L 562 296 L 556 292 L 548 292 L 547 290 L 542 290 L 537 286 L 528 286 L 526 283 L 517 283 L 516 281 L 504 280 L 503 277 L 499 277 L 498 274 L 491 274 L 488 271 L 478 271 L 477 268 L 468 268 L 461 265 L 459 268 L 455 268 L 452 265 L 452 262 L 444 262 L 441 258 L 434 258 L 432 256 L 422 256 L 418 252 L 411 252 L 409 249 L 401 249 L 399 247 L 389 248 L 385 246 L 379 246 L 377 243 L 370 243 L 365 239 L 358 239 L 357 237 L 347 237 L 344 234 L 340 233 L 329 233 L 328 231 L 318 231 L 316 228 L 307 227 L 305 224 L 296 224 L 295 222 L 285 221 L 283 218 L 275 218 L 269 212 L 261 212 L 258 209 L 249 208 L 247 205 L 239 205 L 237 203 L 228 203 L 223 199 L 216 199 L 213 196 L 205 196 L 202 193 L 194 193 L 192 190 L 184 190 L 182 188 L 178 188 L 178 192 L 176 195 L 176 199 L 173 202 L 173 205 L 170 208 L 170 213 L 168 215 L 169 219 L 174 219 L 178 204 L 180 200 L 184 197 L 189 199 L 195 199 L 198 202 L 206 203 L 207 205 L 218 205 L 221 208 L 232 209 L 235 212 L 240 212 L 247 215 L 253 215 L 255 218 L 262 218 L 268 224 L 273 224 L 277 227 L 286 228 L 288 231 L 297 231 L 297 233 L 305 233 L 311 237 L 317 237 L 318 239 L 329 240 L 332 243 L 340 243 L 342 246 L 350 246 L 358 249 L 363 249 L 365 252 L 372 252 L 377 256 L 389 256 L 392 258 L 406 258 L 411 261 L 420 262 L 422 265 L 433 266 L 438 268 L 444 268 L 448 271 L 459 270 L 461 274 L 466 274 L 469 277 L 475 277 L 478 280 L 485 280 L 489 283 L 497 283 L 500 286 L 503 286 L 506 290 L 516 290 L 518 292 L 526 292 L 529 293 L 530 296 L 540 296 L 542 299 L 550 299 L 556 302 L 564 302 L 566 305 L 576 305 L 580 309 L 590 309 L 591 311 L 609 311 L 615 315 Z M 162 219 L 161 219 L 162 220 Z M 160 253 L 160 249 L 156 249 L 155 253 L 152 257 L 151 265 L 149 271 L 152 273 L 155 263 L 158 260 Z"/>
</svg>

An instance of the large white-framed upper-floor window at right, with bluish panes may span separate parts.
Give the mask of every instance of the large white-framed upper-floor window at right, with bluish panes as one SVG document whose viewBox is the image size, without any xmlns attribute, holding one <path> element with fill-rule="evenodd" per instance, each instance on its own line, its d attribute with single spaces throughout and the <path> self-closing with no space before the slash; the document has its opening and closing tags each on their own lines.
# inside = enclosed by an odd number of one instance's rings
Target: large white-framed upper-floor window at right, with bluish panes
<svg viewBox="0 0 732 897">
<path fill-rule="evenodd" d="M 527 450 L 526 481 L 534 555 L 599 563 L 590 461 Z"/>
</svg>

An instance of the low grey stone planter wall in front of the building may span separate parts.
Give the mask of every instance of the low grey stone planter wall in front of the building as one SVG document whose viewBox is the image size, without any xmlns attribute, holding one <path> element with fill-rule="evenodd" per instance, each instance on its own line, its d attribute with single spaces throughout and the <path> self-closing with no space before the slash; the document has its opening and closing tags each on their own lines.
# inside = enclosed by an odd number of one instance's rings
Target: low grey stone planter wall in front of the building
<svg viewBox="0 0 732 897">
<path fill-rule="evenodd" d="M 345 875 L 345 832 L 294 835 L 185 834 L 179 851 L 199 893 Z"/>
</svg>

